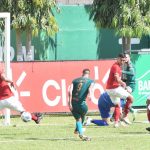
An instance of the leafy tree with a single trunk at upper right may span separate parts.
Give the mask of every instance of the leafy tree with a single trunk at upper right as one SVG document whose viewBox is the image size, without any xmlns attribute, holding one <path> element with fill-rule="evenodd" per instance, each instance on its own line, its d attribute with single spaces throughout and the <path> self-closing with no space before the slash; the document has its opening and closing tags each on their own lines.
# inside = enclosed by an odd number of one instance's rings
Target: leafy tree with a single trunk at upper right
<svg viewBox="0 0 150 150">
<path fill-rule="evenodd" d="M 150 0 L 94 0 L 90 18 L 98 28 L 112 28 L 122 37 L 123 51 L 131 38 L 150 35 Z"/>
</svg>

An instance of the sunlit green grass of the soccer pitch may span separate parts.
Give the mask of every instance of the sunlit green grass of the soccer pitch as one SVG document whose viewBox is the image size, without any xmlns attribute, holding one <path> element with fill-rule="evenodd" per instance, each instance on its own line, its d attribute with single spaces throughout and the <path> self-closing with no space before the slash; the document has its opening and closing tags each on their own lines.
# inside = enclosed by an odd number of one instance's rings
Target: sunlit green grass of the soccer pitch
<svg viewBox="0 0 150 150">
<path fill-rule="evenodd" d="M 11 126 L 0 126 L 0 150 L 148 150 L 150 134 L 145 128 L 150 125 L 138 122 L 145 120 L 146 113 L 139 113 L 128 127 L 88 126 L 85 134 L 92 141 L 85 142 L 73 134 L 72 116 L 45 116 L 40 125 L 12 118 Z"/>
</svg>

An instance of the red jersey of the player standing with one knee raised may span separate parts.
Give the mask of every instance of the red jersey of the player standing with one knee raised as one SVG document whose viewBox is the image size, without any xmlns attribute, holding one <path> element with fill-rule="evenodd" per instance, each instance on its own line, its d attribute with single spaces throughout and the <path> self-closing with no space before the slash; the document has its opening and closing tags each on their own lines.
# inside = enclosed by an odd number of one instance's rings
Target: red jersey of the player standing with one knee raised
<svg viewBox="0 0 150 150">
<path fill-rule="evenodd" d="M 120 84 L 116 81 L 115 74 L 118 73 L 121 77 L 122 70 L 119 64 L 116 62 L 112 65 L 110 69 L 109 78 L 107 81 L 106 89 L 114 89 L 117 88 Z"/>
</svg>

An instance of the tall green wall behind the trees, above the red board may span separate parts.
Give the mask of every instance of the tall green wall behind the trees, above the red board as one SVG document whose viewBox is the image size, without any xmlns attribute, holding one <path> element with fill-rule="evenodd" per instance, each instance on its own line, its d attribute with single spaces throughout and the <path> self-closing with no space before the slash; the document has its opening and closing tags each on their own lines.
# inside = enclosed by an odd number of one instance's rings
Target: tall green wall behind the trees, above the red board
<svg viewBox="0 0 150 150">
<path fill-rule="evenodd" d="M 65 3 L 65 2 L 63 2 Z M 61 12 L 54 15 L 59 25 L 56 36 L 49 38 L 45 33 L 32 38 L 34 60 L 99 60 L 115 58 L 122 51 L 119 37 L 114 30 L 95 28 L 94 22 L 89 20 L 90 5 L 59 4 Z M 25 33 L 22 34 L 25 46 Z M 11 60 L 15 61 L 16 53 L 15 32 L 11 35 Z M 150 48 L 149 37 L 143 37 L 138 44 L 132 44 L 132 50 Z M 23 48 L 25 50 L 25 47 Z"/>
</svg>

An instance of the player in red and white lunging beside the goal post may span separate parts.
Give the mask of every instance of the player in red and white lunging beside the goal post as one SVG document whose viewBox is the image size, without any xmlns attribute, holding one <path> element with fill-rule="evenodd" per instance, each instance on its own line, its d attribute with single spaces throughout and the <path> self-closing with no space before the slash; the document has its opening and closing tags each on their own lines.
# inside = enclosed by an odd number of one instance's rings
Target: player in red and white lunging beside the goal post
<svg viewBox="0 0 150 150">
<path fill-rule="evenodd" d="M 25 109 L 23 108 L 20 101 L 14 96 L 10 86 L 15 88 L 13 81 L 8 79 L 4 72 L 0 70 L 0 110 L 9 108 L 22 114 L 25 112 Z M 34 120 L 36 124 L 40 123 L 40 120 L 42 119 L 41 113 L 31 114 L 31 116 L 32 120 Z"/>
</svg>

